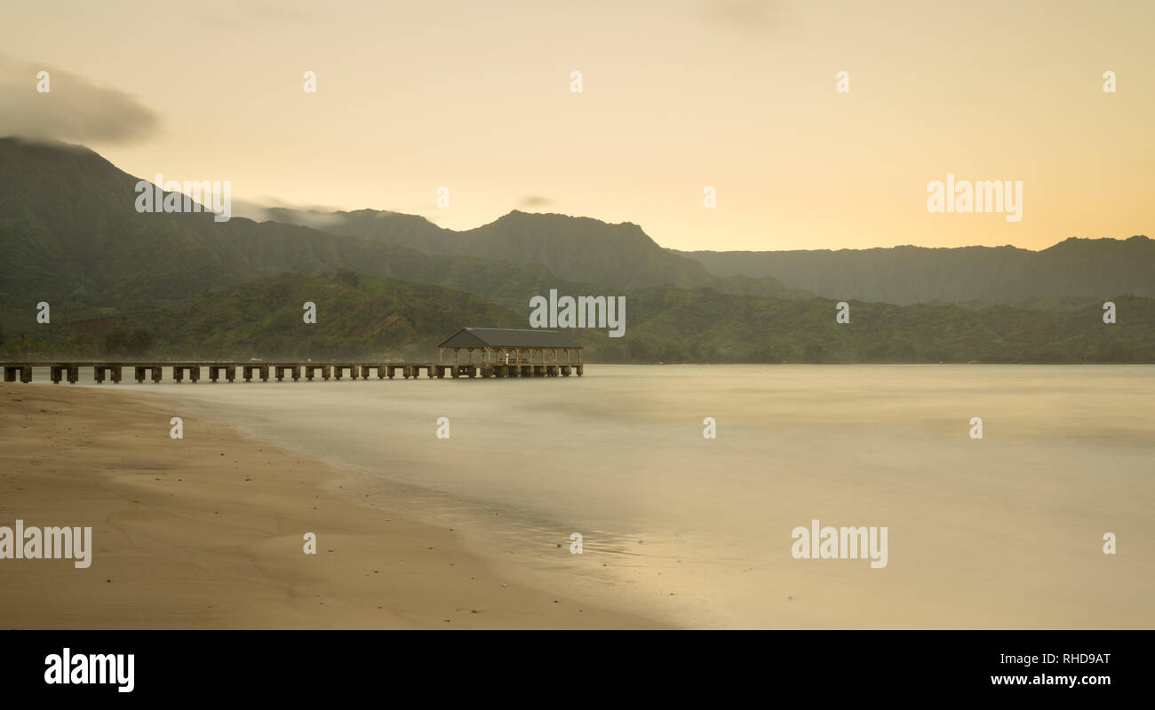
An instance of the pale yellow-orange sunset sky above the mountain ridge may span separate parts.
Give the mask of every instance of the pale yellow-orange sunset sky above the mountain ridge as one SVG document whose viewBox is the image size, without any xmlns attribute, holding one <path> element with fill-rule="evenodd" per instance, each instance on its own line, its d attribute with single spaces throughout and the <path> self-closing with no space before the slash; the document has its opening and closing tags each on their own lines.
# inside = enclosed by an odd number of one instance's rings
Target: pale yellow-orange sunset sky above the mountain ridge
<svg viewBox="0 0 1155 710">
<path fill-rule="evenodd" d="M 560 212 L 678 249 L 1155 236 L 1149 0 L 39 0 L 3 14 L 0 135 L 82 143 L 142 178 L 229 180 L 237 201 L 454 230 Z M 1022 181 L 1021 218 L 929 211 L 927 184 L 948 174 Z"/>
</svg>

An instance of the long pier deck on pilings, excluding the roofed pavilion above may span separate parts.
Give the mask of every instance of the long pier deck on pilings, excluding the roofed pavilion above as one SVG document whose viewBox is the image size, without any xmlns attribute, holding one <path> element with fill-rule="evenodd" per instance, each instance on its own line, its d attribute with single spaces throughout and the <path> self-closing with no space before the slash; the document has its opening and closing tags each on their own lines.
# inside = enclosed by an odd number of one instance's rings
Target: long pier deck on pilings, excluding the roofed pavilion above
<svg viewBox="0 0 1155 710">
<path fill-rule="evenodd" d="M 368 380 L 370 375 L 377 375 L 378 380 L 393 380 L 401 378 L 404 380 L 417 380 L 425 375 L 426 379 L 467 379 L 475 378 L 568 378 L 576 374 L 579 378 L 584 372 L 584 366 L 580 363 L 94 363 L 75 360 L 46 360 L 3 363 L 5 382 L 31 382 L 33 367 L 49 368 L 49 376 L 53 383 L 67 381 L 75 383 L 80 380 L 82 367 L 92 368 L 92 380 L 97 384 L 105 381 L 112 383 L 120 382 L 125 374 L 131 374 L 137 382 L 151 380 L 162 382 L 164 371 L 170 369 L 173 382 L 200 382 L 201 376 L 208 374 L 209 382 L 236 382 L 238 374 L 244 382 L 252 382 L 259 379 L 268 382 L 270 379 L 277 382 L 291 380 L 298 382 L 305 380 L 312 382 L 314 379 L 341 380 L 348 376 L 350 380 Z"/>
</svg>

